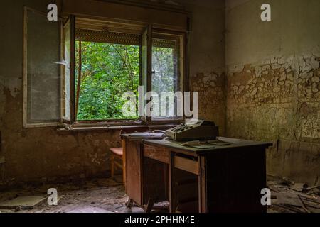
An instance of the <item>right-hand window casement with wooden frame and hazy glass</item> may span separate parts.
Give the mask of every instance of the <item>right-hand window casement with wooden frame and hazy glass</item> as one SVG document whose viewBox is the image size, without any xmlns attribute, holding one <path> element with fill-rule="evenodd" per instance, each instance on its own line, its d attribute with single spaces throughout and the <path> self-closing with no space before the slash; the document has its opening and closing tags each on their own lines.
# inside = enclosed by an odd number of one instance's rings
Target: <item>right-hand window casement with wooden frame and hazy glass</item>
<svg viewBox="0 0 320 227">
<path fill-rule="evenodd" d="M 179 92 L 184 89 L 184 38 L 183 33 L 151 26 L 142 33 L 144 97 L 139 103 L 144 106 L 140 105 L 139 112 L 147 123 L 183 120 L 183 96 Z"/>
</svg>

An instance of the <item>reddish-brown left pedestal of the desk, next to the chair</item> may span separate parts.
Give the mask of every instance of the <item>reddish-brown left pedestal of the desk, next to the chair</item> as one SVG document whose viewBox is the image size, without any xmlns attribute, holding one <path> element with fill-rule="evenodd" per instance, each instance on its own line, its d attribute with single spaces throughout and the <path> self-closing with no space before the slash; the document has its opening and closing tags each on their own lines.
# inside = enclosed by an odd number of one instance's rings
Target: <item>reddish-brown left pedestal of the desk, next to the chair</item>
<svg viewBox="0 0 320 227">
<path fill-rule="evenodd" d="M 142 155 L 143 140 L 159 140 L 163 138 L 162 135 L 163 133 L 121 135 L 126 163 L 126 194 L 129 196 L 127 206 L 131 206 L 134 201 L 139 206 L 146 205 L 146 211 L 150 211 L 154 202 L 169 200 L 168 165 L 163 163 L 154 165 L 154 160 L 144 159 Z M 153 199 L 154 195 L 157 195 L 156 199 Z M 147 206 L 148 204 L 150 205 Z"/>
</svg>

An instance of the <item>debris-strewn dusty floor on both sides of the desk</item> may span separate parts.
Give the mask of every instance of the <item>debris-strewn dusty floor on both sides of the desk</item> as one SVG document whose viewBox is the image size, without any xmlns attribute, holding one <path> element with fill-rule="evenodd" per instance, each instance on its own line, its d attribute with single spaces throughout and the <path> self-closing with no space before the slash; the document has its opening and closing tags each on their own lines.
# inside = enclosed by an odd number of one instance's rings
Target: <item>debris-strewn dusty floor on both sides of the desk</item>
<svg viewBox="0 0 320 227">
<path fill-rule="evenodd" d="M 0 208 L 1 212 L 19 213 L 130 213 L 143 212 L 133 206 L 127 208 L 128 200 L 124 187 L 112 179 L 92 179 L 90 181 L 73 182 L 41 187 L 25 187 L 0 192 L 0 202 L 9 201 L 18 196 L 46 196 L 49 188 L 58 190 L 58 205 L 48 206 L 47 199 L 40 204 L 29 207 Z M 301 212 L 320 213 L 319 187 L 307 188 L 306 185 L 294 184 L 284 179 L 271 179 L 268 187 L 272 192 L 272 206 L 268 212 Z"/>
</svg>

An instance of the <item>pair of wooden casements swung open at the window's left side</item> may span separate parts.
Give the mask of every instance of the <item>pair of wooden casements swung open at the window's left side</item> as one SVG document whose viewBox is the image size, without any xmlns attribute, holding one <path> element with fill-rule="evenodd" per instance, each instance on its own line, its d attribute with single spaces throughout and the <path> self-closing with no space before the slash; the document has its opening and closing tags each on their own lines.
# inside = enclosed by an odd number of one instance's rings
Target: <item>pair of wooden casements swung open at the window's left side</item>
<svg viewBox="0 0 320 227">
<path fill-rule="evenodd" d="M 48 21 L 25 7 L 23 18 L 23 126 L 73 123 L 75 17 Z"/>
</svg>

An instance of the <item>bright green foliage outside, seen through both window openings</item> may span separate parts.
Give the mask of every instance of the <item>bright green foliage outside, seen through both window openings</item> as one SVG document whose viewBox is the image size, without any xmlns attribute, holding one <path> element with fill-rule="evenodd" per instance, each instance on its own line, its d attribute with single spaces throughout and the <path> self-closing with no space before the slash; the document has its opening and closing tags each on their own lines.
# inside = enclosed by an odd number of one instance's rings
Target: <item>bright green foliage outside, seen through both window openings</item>
<svg viewBox="0 0 320 227">
<path fill-rule="evenodd" d="M 81 78 L 78 87 L 80 45 Z M 139 48 L 136 45 L 76 42 L 75 96 L 78 121 L 128 119 L 122 115 L 122 94 L 134 92 L 138 95 Z M 176 92 L 175 64 L 174 49 L 153 47 L 154 92 Z"/>
</svg>

